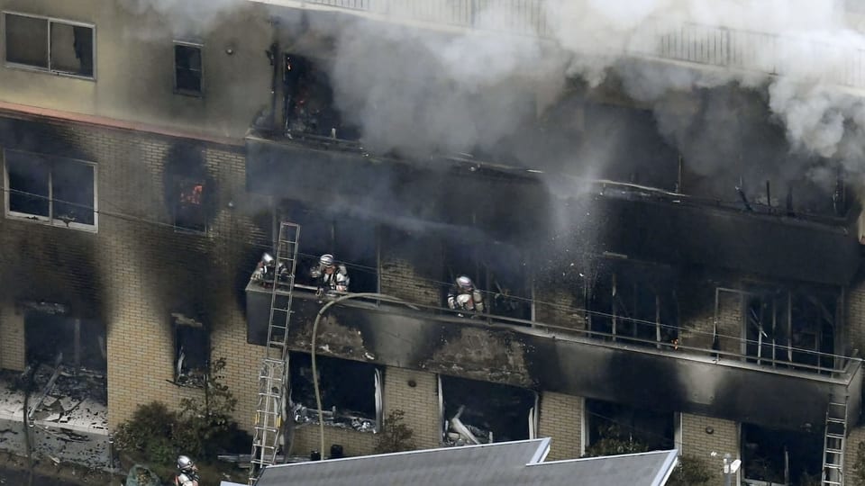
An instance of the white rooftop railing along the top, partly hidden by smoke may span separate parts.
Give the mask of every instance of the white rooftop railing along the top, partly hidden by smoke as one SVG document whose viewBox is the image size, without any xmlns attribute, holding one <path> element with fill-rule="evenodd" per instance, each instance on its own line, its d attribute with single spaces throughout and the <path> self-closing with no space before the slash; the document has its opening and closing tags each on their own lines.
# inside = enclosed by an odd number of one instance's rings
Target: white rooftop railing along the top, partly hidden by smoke
<svg viewBox="0 0 865 486">
<path fill-rule="evenodd" d="M 253 0 L 341 11 L 432 29 L 458 28 L 556 40 L 546 0 Z M 627 32 L 625 54 L 770 76 L 815 78 L 865 87 L 862 49 L 768 32 L 653 18 Z M 596 49 L 597 46 L 592 46 Z M 594 52 L 594 50 L 593 50 Z"/>
</svg>

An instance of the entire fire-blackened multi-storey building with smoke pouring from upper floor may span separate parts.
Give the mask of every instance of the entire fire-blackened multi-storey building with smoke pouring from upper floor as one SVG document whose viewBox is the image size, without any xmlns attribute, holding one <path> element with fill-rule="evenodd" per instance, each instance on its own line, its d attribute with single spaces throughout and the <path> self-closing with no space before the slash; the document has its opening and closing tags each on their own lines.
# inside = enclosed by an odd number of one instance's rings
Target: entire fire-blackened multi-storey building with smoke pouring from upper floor
<svg viewBox="0 0 865 486">
<path fill-rule="evenodd" d="M 851 470 L 858 13 L 797 37 L 589 9 L 592 43 L 552 0 L 0 7 L 0 365 L 88 377 L 95 437 L 225 357 L 241 426 L 279 410 L 297 455 L 327 455 L 322 419 L 369 453 L 403 410 L 419 447 Z M 293 275 L 250 278 L 286 221 Z M 321 312 L 322 255 L 369 296 Z M 449 307 L 460 276 L 482 311 Z M 289 379 L 259 395 L 288 307 Z"/>
</svg>

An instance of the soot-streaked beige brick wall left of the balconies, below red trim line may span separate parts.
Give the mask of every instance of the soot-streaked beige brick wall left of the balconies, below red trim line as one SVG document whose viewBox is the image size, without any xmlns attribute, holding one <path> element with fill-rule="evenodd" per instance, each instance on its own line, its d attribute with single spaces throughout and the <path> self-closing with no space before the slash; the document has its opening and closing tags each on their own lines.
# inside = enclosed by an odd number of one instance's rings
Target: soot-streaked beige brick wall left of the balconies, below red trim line
<svg viewBox="0 0 865 486">
<path fill-rule="evenodd" d="M 251 393 L 259 356 L 243 338 L 241 283 L 269 247 L 269 228 L 253 222 L 268 206 L 244 190 L 242 148 L 190 149 L 189 140 L 68 122 L 10 116 L 0 122 L 3 148 L 96 166 L 98 227 L 3 218 L 0 283 L 12 301 L 63 303 L 74 317 L 105 325 L 111 425 L 127 418 L 142 396 L 175 405 L 196 393 L 171 384 L 177 359 L 172 313 L 204 324 L 212 343 L 206 354 L 228 358 L 227 381 L 239 398 Z M 180 196 L 178 175 L 204 183 L 204 228 L 178 225 L 171 201 Z M 14 315 L 14 303 L 4 303 L 4 316 Z M 24 333 L 16 332 L 4 336 L 23 341 Z M 148 374 L 141 374 L 142 365 Z M 240 402 L 241 425 L 251 417 L 242 412 L 253 406 L 248 402 Z"/>
</svg>

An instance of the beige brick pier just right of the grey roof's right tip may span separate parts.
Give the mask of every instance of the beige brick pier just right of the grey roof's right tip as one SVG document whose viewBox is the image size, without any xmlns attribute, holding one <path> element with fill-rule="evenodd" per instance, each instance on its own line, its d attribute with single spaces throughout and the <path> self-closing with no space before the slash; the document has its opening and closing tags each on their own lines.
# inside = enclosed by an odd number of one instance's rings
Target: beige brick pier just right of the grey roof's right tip
<svg viewBox="0 0 865 486">
<path fill-rule="evenodd" d="M 710 483 L 723 484 L 722 466 L 724 463 L 721 456 L 730 454 L 733 455 L 733 459 L 741 458 L 739 424 L 730 420 L 683 413 L 681 414 L 680 426 L 682 440 L 679 446 L 680 453 L 704 459 L 715 473 L 716 479 Z M 711 434 L 706 432 L 707 428 L 711 428 Z M 720 456 L 712 457 L 713 452 Z"/>
</svg>

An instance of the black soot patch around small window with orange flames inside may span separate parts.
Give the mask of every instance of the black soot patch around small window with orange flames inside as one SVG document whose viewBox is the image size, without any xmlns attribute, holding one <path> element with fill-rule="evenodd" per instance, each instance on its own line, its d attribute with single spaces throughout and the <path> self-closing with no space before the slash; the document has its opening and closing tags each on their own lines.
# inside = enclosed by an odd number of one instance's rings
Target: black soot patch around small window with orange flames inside
<svg viewBox="0 0 865 486">
<path fill-rule="evenodd" d="M 165 160 L 165 202 L 178 229 L 205 232 L 214 216 L 214 179 L 207 173 L 204 146 L 178 143 Z"/>
</svg>

